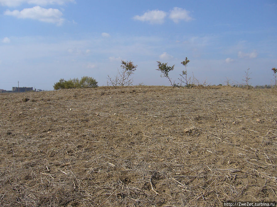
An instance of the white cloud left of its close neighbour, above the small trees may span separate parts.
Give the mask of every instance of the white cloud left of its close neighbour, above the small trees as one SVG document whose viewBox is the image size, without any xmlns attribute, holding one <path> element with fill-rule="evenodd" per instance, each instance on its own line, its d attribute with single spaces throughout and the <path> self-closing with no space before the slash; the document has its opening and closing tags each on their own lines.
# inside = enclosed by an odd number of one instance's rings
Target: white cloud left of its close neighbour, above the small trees
<svg viewBox="0 0 277 207">
<path fill-rule="evenodd" d="M 136 15 L 133 17 L 134 20 L 147 21 L 150 24 L 162 24 L 164 22 L 167 13 L 161 10 L 151 10 L 145 12 L 143 15 Z"/>
</svg>

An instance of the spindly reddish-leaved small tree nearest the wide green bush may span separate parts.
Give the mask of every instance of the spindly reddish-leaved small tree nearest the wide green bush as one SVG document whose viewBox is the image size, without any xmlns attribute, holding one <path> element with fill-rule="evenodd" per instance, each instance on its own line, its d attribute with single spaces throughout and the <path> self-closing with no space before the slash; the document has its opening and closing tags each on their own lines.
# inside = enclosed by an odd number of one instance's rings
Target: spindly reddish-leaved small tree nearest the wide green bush
<svg viewBox="0 0 277 207">
<path fill-rule="evenodd" d="M 117 85 L 122 86 L 130 86 L 133 83 L 133 79 L 131 79 L 131 75 L 134 74 L 134 71 L 137 69 L 137 65 L 134 65 L 133 62 L 121 60 L 121 71 L 118 71 L 118 74 L 115 76 L 115 79 L 111 79 L 108 75 L 109 81 L 107 81 L 107 85 L 111 84 L 112 86 L 116 87 Z"/>
</svg>

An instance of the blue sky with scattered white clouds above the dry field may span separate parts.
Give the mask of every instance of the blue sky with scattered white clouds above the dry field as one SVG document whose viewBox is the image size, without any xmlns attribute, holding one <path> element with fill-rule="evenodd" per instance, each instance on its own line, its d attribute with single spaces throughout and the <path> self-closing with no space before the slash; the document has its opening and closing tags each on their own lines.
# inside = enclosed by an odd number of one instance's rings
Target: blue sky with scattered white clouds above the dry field
<svg viewBox="0 0 277 207">
<path fill-rule="evenodd" d="M 277 1 L 0 0 L 0 89 L 53 90 L 59 79 L 107 85 L 121 60 L 134 85 L 169 85 L 157 62 L 210 84 L 270 84 L 277 67 Z"/>
</svg>

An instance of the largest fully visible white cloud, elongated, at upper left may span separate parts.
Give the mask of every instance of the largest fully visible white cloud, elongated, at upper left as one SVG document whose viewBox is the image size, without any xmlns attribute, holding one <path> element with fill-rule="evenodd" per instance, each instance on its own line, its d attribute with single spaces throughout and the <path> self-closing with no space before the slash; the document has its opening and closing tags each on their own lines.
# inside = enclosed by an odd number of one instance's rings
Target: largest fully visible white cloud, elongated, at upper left
<svg viewBox="0 0 277 207">
<path fill-rule="evenodd" d="M 64 19 L 62 18 L 62 12 L 58 9 L 44 9 L 40 6 L 34 6 L 33 8 L 26 8 L 22 11 L 6 10 L 5 15 L 14 16 L 21 19 L 34 19 L 38 21 L 43 21 L 47 23 L 54 23 L 57 25 L 62 25 Z"/>
</svg>

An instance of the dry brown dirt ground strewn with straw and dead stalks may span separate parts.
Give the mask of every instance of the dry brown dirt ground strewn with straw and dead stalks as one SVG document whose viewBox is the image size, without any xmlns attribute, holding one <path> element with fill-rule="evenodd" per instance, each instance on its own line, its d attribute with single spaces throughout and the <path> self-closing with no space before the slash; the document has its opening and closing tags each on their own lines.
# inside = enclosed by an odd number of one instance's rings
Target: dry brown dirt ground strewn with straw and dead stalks
<svg viewBox="0 0 277 207">
<path fill-rule="evenodd" d="M 0 117 L 0 206 L 277 201 L 273 90 L 2 94 Z"/>
</svg>

